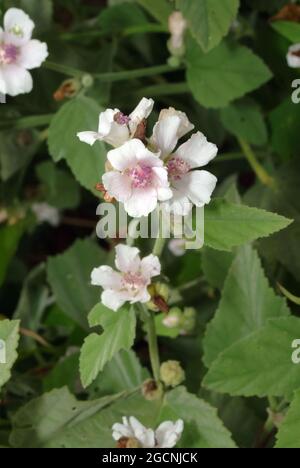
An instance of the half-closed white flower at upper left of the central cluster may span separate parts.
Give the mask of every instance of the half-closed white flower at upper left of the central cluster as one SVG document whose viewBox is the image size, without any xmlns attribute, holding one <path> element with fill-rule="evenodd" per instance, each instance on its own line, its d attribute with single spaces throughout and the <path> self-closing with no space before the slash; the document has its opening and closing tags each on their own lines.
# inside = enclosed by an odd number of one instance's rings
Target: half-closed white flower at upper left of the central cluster
<svg viewBox="0 0 300 468">
<path fill-rule="evenodd" d="M 77 136 L 89 145 L 100 140 L 117 148 L 134 138 L 138 126 L 149 117 L 153 106 L 153 99 L 143 98 L 128 116 L 119 109 L 107 109 L 100 114 L 98 132 L 80 132 Z"/>
</svg>

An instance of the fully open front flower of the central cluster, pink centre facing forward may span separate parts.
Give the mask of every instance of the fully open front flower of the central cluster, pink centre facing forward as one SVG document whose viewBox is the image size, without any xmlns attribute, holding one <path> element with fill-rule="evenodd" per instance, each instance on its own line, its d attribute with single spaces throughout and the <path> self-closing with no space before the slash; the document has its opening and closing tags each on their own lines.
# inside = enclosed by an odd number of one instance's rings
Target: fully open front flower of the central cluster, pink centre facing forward
<svg viewBox="0 0 300 468">
<path fill-rule="evenodd" d="M 148 216 L 158 201 L 172 197 L 167 168 L 158 156 L 137 139 L 107 155 L 113 170 L 103 175 L 104 188 L 134 218 Z"/>
</svg>

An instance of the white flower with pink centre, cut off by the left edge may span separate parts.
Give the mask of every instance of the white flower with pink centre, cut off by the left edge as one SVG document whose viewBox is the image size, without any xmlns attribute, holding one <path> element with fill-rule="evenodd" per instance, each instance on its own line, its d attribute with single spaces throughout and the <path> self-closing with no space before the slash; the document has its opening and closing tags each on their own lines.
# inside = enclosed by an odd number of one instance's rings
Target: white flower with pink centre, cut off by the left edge
<svg viewBox="0 0 300 468">
<path fill-rule="evenodd" d="M 0 93 L 29 93 L 33 82 L 28 70 L 38 68 L 48 56 L 47 44 L 32 40 L 34 23 L 24 11 L 10 8 L 0 28 Z"/>
</svg>

